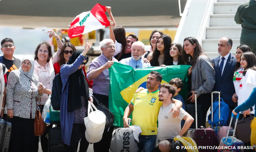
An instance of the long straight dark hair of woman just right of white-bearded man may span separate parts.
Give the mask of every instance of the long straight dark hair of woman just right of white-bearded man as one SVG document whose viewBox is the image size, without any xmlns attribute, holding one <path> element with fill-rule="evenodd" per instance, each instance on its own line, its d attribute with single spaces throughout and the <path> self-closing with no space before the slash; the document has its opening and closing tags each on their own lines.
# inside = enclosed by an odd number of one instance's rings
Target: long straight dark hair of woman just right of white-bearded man
<svg viewBox="0 0 256 152">
<path fill-rule="evenodd" d="M 170 58 L 171 58 L 170 48 L 171 48 L 172 38 L 167 34 L 161 35 L 158 38 L 158 40 L 160 38 L 163 38 L 163 41 L 164 41 L 164 64 L 169 65 Z M 150 60 L 151 66 L 159 66 L 159 64 L 161 64 L 158 62 L 158 57 L 160 56 L 160 51 L 157 49 L 157 46 L 155 46 L 155 51 L 153 52 L 152 56 L 153 56 L 153 58 L 152 58 L 152 60 Z"/>
</svg>

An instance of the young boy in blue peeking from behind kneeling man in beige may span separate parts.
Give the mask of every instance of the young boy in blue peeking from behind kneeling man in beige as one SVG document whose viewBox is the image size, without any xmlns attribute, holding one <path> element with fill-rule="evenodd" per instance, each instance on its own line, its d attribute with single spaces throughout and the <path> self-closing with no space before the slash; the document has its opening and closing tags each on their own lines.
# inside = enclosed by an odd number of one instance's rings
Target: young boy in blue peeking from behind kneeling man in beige
<svg viewBox="0 0 256 152">
<path fill-rule="evenodd" d="M 176 93 L 175 95 L 173 96 L 173 99 L 176 99 L 176 100 L 180 100 L 182 102 L 182 109 L 184 109 L 186 111 L 186 105 L 185 105 L 185 101 L 184 99 L 182 98 L 181 95 L 179 95 L 179 92 L 182 90 L 183 88 L 183 83 L 182 83 L 182 79 L 180 78 L 173 78 L 172 80 L 170 80 L 169 82 L 170 85 L 174 86 L 174 88 L 176 89 Z M 182 120 L 181 122 L 181 128 L 183 128 L 184 126 L 184 123 L 185 123 L 185 120 Z"/>
</svg>

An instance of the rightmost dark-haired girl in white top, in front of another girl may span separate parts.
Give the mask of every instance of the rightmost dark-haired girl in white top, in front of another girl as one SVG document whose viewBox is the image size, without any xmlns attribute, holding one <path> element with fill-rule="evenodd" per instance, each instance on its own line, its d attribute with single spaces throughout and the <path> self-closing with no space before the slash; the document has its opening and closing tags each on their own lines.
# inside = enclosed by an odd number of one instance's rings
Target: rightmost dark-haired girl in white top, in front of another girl
<svg viewBox="0 0 256 152">
<path fill-rule="evenodd" d="M 238 95 L 238 106 L 244 103 L 250 96 L 253 88 L 256 87 L 256 56 L 252 52 L 245 52 L 241 55 L 240 61 L 241 67 L 244 68 L 243 77 L 240 81 L 240 89 Z M 250 109 L 243 112 L 244 117 L 246 115 L 254 114 Z"/>
</svg>

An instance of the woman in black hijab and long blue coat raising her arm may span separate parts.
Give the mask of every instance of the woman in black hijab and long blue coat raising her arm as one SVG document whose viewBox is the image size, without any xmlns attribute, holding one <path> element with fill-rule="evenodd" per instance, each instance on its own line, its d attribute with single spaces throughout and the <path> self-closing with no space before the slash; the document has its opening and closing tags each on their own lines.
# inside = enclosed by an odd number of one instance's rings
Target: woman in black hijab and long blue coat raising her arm
<svg viewBox="0 0 256 152">
<path fill-rule="evenodd" d="M 87 42 L 87 39 L 86 39 Z M 93 102 L 89 93 L 88 83 L 83 73 L 83 66 L 88 62 L 86 53 L 90 46 L 84 46 L 84 51 L 74 52 L 60 68 L 63 84 L 63 96 L 60 105 L 60 123 L 62 138 L 69 147 L 69 152 L 75 152 L 80 141 L 80 152 L 86 152 L 89 146 L 85 138 L 83 118 L 87 117 L 88 101 Z"/>
</svg>

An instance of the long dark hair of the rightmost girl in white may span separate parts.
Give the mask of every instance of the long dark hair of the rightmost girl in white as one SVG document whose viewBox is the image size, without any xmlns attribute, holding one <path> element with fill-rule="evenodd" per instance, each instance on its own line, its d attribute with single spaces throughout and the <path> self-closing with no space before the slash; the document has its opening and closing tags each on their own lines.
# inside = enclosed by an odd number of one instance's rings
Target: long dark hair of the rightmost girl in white
<svg viewBox="0 0 256 152">
<path fill-rule="evenodd" d="M 247 67 L 244 69 L 243 75 L 245 76 L 246 72 L 249 69 L 256 71 L 256 56 L 253 54 L 253 52 L 245 52 L 241 55 L 241 57 L 244 56 L 244 59 L 247 61 Z"/>
</svg>

